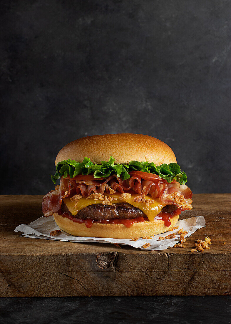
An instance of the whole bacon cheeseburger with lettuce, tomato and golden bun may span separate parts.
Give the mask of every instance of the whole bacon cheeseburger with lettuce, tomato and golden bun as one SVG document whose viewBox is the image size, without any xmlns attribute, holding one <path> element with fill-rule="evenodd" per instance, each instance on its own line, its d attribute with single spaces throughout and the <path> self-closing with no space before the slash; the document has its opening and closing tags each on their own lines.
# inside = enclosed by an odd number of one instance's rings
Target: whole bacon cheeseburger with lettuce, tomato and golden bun
<svg viewBox="0 0 231 324">
<path fill-rule="evenodd" d="M 192 191 L 171 148 L 142 134 L 87 136 L 58 153 L 54 184 L 42 203 L 44 216 L 79 237 L 135 238 L 164 233 Z"/>
</svg>

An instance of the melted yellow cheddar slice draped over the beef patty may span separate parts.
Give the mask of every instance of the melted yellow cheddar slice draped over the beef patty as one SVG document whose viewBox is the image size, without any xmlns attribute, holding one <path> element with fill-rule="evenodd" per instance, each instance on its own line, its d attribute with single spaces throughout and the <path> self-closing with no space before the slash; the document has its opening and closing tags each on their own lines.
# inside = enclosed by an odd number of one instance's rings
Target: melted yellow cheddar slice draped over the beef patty
<svg viewBox="0 0 231 324">
<path fill-rule="evenodd" d="M 112 203 L 129 203 L 134 207 L 139 208 L 140 210 L 142 210 L 142 212 L 148 217 L 148 219 L 150 221 L 153 221 L 155 216 L 158 215 L 161 211 L 161 209 L 166 206 L 165 204 L 162 204 L 160 199 L 157 198 L 154 200 L 154 203 L 142 203 L 142 202 L 134 202 L 134 198 L 139 196 L 137 194 L 132 194 L 131 198 L 127 198 L 127 199 L 123 199 L 121 197 L 121 195 L 118 194 L 112 194 L 112 195 L 105 195 L 108 197 L 112 197 L 112 198 L 117 198 L 116 201 L 112 201 Z M 144 199 L 147 200 L 152 200 L 153 199 L 149 196 L 145 196 Z M 101 200 L 94 200 L 94 198 L 80 198 L 77 202 L 76 201 L 71 201 L 70 198 L 63 198 L 63 202 L 65 203 L 65 205 L 67 206 L 67 208 L 69 209 L 69 211 L 71 212 L 72 215 L 76 215 L 81 209 L 89 206 L 89 205 L 93 205 L 96 203 L 102 203 Z"/>
</svg>

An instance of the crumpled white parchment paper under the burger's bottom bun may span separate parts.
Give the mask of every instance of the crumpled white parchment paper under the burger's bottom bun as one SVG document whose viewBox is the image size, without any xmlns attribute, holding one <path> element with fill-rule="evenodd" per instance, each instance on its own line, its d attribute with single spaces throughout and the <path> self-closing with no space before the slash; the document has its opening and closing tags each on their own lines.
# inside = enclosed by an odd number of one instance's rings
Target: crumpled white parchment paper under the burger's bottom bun
<svg viewBox="0 0 231 324">
<path fill-rule="evenodd" d="M 179 226 L 178 229 L 166 232 L 163 234 L 158 234 L 152 237 L 152 239 L 141 239 L 137 241 L 132 241 L 130 238 L 102 238 L 102 237 L 78 237 L 67 234 L 63 231 L 57 234 L 56 236 L 51 236 L 50 232 L 59 227 L 56 225 L 54 217 L 40 217 L 29 225 L 22 224 L 16 227 L 15 232 L 23 232 L 21 237 L 33 237 L 33 238 L 46 238 L 49 240 L 57 241 L 68 241 L 68 242 L 97 242 L 97 243 L 118 243 L 131 245 L 134 248 L 143 249 L 142 245 L 145 243 L 150 243 L 150 247 L 145 250 L 157 251 L 165 250 L 167 248 L 172 248 L 176 243 L 180 241 L 180 235 L 177 234 L 180 228 L 184 228 L 185 231 L 188 231 L 188 234 L 185 237 L 192 235 L 198 228 L 206 227 L 205 218 L 203 216 L 191 217 L 187 219 L 179 220 L 175 226 Z M 176 233 L 176 237 L 172 239 L 164 239 L 163 241 L 158 241 L 160 236 L 168 236 L 169 234 Z"/>
</svg>

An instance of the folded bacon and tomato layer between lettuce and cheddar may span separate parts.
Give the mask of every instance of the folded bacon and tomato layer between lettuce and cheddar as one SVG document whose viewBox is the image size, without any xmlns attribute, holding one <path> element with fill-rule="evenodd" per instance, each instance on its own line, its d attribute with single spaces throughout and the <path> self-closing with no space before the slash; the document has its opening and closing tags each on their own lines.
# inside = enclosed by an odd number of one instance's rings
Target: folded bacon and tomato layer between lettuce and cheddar
<svg viewBox="0 0 231 324">
<path fill-rule="evenodd" d="M 182 211 L 192 208 L 192 191 L 186 185 L 180 185 L 175 180 L 168 183 L 155 174 L 142 171 L 132 171 L 130 175 L 128 180 L 122 180 L 116 175 L 97 180 L 94 180 L 92 175 L 79 175 L 73 179 L 61 178 L 59 189 L 52 190 L 44 196 L 42 211 L 48 217 L 59 212 L 62 199 L 65 197 L 72 197 L 75 194 L 89 197 L 92 193 L 110 193 L 111 189 L 121 194 L 129 191 L 150 195 L 152 199 L 159 198 L 163 204 L 176 205 Z"/>
</svg>

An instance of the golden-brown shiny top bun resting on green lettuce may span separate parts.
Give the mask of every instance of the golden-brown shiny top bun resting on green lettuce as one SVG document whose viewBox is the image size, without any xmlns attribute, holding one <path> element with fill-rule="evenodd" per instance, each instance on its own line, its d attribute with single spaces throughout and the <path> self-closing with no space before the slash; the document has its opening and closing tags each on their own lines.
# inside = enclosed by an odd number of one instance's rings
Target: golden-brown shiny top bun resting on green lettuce
<svg viewBox="0 0 231 324">
<path fill-rule="evenodd" d="M 110 156 L 119 164 L 132 160 L 156 165 L 176 162 L 171 148 L 157 138 L 142 134 L 106 134 L 82 137 L 65 145 L 59 151 L 55 165 L 68 159 L 82 162 L 85 156 L 98 164 L 109 161 Z"/>
</svg>

